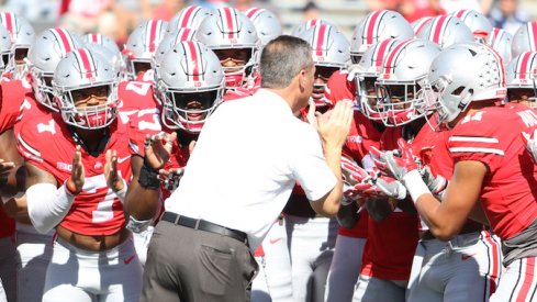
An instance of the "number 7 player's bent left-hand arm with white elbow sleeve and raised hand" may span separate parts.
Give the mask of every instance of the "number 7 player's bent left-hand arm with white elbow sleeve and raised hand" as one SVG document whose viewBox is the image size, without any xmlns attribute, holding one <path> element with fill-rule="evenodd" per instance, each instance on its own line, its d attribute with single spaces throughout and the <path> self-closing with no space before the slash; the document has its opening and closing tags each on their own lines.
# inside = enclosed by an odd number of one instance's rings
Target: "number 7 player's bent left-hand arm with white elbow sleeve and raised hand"
<svg viewBox="0 0 537 302">
<path fill-rule="evenodd" d="M 58 225 L 82 191 L 85 169 L 80 147 L 72 158 L 71 176 L 58 188 L 56 179 L 47 171 L 26 163 L 26 202 L 30 220 L 40 233 L 47 233 Z"/>
</svg>

